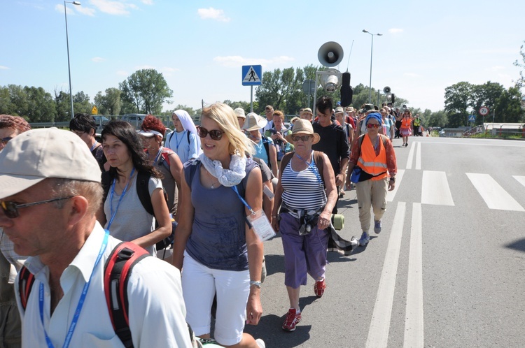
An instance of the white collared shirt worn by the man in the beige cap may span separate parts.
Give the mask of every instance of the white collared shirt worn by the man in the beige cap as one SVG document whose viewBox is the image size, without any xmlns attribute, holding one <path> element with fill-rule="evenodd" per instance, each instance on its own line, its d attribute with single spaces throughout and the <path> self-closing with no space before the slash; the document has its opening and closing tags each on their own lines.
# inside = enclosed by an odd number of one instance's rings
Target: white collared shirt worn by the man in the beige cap
<svg viewBox="0 0 525 348">
<path fill-rule="evenodd" d="M 97 259 L 104 230 L 96 222 L 75 259 L 64 270 L 60 285 L 64 296 L 50 317 L 49 268 L 38 256 L 29 257 L 25 266 L 35 275 L 26 310 L 20 305 L 18 280 L 15 282 L 18 308 L 22 320 L 22 347 L 48 348 L 38 310 L 38 288 L 43 284 L 43 317 L 45 331 L 55 347 L 62 347 L 76 311 L 80 293 L 91 277 L 85 303 L 78 317 L 69 347 L 124 347 L 113 331 L 104 293 L 104 264 L 120 242 L 109 236 L 108 245 L 97 268 Z M 179 270 L 156 257 L 139 261 L 127 284 L 130 331 L 135 348 L 192 347 L 186 324 L 186 306 L 182 297 Z"/>
</svg>

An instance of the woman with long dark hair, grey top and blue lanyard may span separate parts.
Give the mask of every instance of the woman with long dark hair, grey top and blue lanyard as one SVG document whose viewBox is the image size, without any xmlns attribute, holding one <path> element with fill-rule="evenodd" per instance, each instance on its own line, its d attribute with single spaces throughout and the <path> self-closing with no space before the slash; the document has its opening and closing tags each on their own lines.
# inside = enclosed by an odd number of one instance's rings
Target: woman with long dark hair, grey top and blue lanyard
<svg viewBox="0 0 525 348">
<path fill-rule="evenodd" d="M 127 122 L 116 120 L 104 126 L 102 149 L 110 168 L 102 175 L 106 198 L 97 218 L 113 237 L 134 242 L 155 255 L 155 243 L 172 233 L 162 175 L 148 164 L 141 138 Z M 141 185 L 148 189 L 153 215 L 141 203 Z"/>
</svg>

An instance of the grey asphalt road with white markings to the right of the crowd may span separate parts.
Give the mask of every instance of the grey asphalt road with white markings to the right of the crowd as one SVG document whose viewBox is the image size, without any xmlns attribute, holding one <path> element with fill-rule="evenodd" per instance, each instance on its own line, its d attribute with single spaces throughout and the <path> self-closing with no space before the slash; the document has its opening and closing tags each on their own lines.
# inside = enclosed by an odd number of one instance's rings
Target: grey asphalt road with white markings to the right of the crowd
<svg viewBox="0 0 525 348">
<path fill-rule="evenodd" d="M 309 278 L 292 333 L 281 329 L 280 235 L 265 242 L 264 314 L 246 332 L 266 347 L 525 346 L 525 141 L 401 143 L 383 231 L 350 256 L 328 254 L 325 294 Z M 339 212 L 342 235 L 359 238 L 355 191 Z"/>
</svg>

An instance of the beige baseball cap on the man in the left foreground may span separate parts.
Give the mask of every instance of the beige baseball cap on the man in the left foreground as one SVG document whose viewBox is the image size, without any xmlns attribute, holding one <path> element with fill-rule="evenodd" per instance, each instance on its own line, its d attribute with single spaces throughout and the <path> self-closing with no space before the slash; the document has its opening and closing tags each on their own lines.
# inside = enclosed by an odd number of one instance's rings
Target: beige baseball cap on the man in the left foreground
<svg viewBox="0 0 525 348">
<path fill-rule="evenodd" d="M 45 178 L 100 182 L 100 167 L 79 136 L 56 128 L 15 136 L 0 151 L 0 198 L 13 196 Z"/>
</svg>

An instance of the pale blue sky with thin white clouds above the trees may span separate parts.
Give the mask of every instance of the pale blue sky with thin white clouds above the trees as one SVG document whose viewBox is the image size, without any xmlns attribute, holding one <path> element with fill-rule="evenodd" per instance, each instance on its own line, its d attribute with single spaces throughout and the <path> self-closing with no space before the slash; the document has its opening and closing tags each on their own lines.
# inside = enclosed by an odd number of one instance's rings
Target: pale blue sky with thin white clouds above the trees
<svg viewBox="0 0 525 348">
<path fill-rule="evenodd" d="M 522 0 L 84 0 L 66 8 L 73 94 L 93 100 L 134 71 L 155 68 L 174 92 L 165 109 L 249 101 L 241 66 L 317 65 L 326 41 L 342 45 L 339 70 L 349 64 L 351 85 L 368 85 L 367 29 L 383 34 L 374 37 L 372 86 L 437 111 L 456 82 L 513 85 L 525 40 Z M 64 2 L 0 0 L 0 15 L 0 85 L 67 92 Z"/>
</svg>

